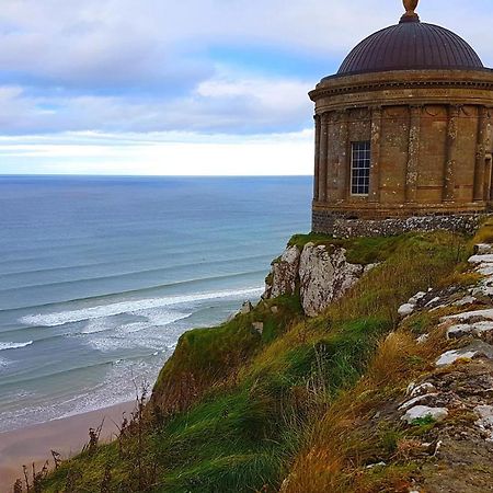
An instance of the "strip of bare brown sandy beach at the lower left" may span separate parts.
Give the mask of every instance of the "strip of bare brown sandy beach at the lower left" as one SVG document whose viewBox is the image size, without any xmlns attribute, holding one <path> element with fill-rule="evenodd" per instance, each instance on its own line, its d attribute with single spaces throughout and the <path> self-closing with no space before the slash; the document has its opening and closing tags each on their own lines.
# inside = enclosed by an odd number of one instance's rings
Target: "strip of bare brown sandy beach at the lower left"
<svg viewBox="0 0 493 493">
<path fill-rule="evenodd" d="M 39 423 L 25 428 L 0 433 L 0 491 L 11 492 L 18 478 L 23 479 L 22 466 L 30 468 L 34 462 L 36 470 L 46 460 L 53 467 L 50 450 L 70 458 L 81 451 L 89 442 L 89 428 L 96 428 L 104 419 L 101 442 L 110 442 L 118 433 L 115 425 L 122 422 L 122 414 L 135 409 L 135 401 L 115 404 L 96 411 Z"/>
</svg>

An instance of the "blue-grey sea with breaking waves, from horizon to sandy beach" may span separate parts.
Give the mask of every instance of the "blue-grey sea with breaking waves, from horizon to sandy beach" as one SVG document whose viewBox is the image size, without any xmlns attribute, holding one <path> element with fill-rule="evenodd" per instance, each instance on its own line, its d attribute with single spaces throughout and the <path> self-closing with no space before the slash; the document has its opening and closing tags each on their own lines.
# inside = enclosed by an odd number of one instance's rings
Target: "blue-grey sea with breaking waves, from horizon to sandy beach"
<svg viewBox="0 0 493 493">
<path fill-rule="evenodd" d="M 312 179 L 0 176 L 0 432 L 152 387 L 257 300 Z"/>
</svg>

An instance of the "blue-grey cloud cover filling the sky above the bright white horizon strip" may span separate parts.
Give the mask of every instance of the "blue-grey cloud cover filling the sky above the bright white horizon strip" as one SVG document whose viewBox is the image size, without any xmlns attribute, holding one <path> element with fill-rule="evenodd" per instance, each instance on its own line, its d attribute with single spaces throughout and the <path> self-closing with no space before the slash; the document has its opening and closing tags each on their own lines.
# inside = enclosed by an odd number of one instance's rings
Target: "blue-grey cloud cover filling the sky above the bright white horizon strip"
<svg viewBox="0 0 493 493">
<path fill-rule="evenodd" d="M 307 92 L 401 11 L 398 0 L 4 1 L 0 133 L 299 131 Z M 421 2 L 420 14 L 493 65 L 490 2 Z"/>
</svg>

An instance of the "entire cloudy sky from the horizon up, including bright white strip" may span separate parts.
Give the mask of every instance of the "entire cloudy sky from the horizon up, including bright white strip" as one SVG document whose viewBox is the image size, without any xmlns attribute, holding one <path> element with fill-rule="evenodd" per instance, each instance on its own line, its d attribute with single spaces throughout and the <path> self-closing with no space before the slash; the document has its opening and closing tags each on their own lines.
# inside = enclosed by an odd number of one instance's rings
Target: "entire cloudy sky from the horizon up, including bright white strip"
<svg viewBox="0 0 493 493">
<path fill-rule="evenodd" d="M 491 0 L 421 0 L 493 66 Z M 0 0 L 0 174 L 311 174 L 307 93 L 400 0 Z"/>
</svg>

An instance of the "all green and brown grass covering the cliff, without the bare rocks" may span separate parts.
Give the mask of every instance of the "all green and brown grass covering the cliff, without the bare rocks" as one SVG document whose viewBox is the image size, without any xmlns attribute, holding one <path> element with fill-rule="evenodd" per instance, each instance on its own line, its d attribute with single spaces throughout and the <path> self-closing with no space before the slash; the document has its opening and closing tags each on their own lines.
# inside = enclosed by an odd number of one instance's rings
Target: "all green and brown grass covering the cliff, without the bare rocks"
<svg viewBox="0 0 493 493">
<path fill-rule="evenodd" d="M 307 241 L 335 242 L 291 240 Z M 39 491 L 408 491 L 415 466 L 399 447 L 433 423 L 370 417 L 448 343 L 416 343 L 435 316 L 399 325 L 398 308 L 416 291 L 475 282 L 472 242 L 437 231 L 345 248 L 352 262 L 380 263 L 313 319 L 284 296 L 185 333 L 121 437 L 65 461 Z"/>
</svg>

